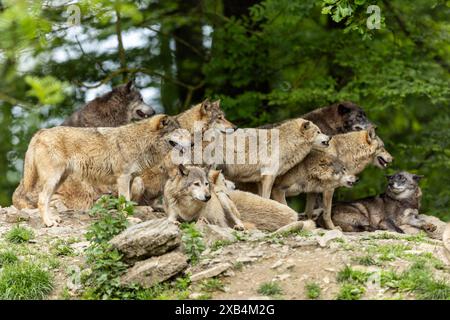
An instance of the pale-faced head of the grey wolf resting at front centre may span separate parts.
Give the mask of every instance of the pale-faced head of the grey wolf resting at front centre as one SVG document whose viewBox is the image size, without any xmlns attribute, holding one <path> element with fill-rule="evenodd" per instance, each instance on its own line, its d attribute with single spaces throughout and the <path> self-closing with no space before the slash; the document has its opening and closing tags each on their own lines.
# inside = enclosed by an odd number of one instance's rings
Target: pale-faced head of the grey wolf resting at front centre
<svg viewBox="0 0 450 320">
<path fill-rule="evenodd" d="M 178 165 L 177 175 L 181 178 L 181 187 L 192 199 L 202 202 L 211 199 L 208 171 L 207 168 Z"/>
</svg>

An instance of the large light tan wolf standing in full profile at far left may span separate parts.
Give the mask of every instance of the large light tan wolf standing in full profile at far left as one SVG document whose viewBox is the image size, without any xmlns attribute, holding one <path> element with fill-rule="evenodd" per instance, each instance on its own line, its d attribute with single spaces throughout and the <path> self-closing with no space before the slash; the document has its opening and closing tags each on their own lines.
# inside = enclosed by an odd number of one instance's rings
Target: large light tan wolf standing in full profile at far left
<svg viewBox="0 0 450 320">
<path fill-rule="evenodd" d="M 59 218 L 50 200 L 71 175 L 90 183 L 117 183 L 119 195 L 131 198 L 131 182 L 146 167 L 159 163 L 171 148 L 191 146 L 191 136 L 167 115 L 117 128 L 55 127 L 38 131 L 25 155 L 24 190 L 41 187 L 38 208 L 46 226 Z"/>
</svg>

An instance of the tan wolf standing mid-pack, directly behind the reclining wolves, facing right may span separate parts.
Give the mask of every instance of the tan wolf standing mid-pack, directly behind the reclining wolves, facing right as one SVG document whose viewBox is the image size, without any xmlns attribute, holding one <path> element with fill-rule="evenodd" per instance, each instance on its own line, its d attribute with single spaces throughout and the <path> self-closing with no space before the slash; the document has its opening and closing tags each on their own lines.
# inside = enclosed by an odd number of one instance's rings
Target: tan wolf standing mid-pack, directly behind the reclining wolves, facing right
<svg viewBox="0 0 450 320">
<path fill-rule="evenodd" d="M 268 154 L 273 152 L 271 130 L 267 129 L 245 129 L 252 130 L 258 136 L 267 133 Z M 254 130 L 254 131 L 253 131 Z M 264 159 L 257 159 L 256 164 L 250 164 L 249 144 L 245 145 L 245 164 L 222 164 L 218 168 L 222 169 L 224 176 L 234 182 L 256 182 L 259 194 L 263 198 L 270 198 L 273 182 L 279 175 L 284 174 L 293 166 L 301 162 L 312 149 L 323 149 L 329 144 L 330 137 L 322 134 L 319 128 L 311 121 L 301 118 L 286 121 L 276 128 L 279 137 L 279 157 L 278 167 L 273 169 L 273 163 L 265 163 Z M 244 132 L 245 134 L 245 132 Z M 224 144 L 226 146 L 226 143 Z M 235 159 L 239 152 L 239 147 L 234 146 Z M 225 152 L 224 152 L 225 154 Z"/>
</svg>

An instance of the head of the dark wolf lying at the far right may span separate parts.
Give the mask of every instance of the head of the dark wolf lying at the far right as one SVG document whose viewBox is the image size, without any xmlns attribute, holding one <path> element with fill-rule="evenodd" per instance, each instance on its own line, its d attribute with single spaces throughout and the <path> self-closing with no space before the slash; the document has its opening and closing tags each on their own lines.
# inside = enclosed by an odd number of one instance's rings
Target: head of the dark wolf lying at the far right
<svg viewBox="0 0 450 320">
<path fill-rule="evenodd" d="M 423 176 L 406 171 L 387 176 L 388 186 L 386 193 L 393 199 L 410 199 L 418 194 L 419 181 L 422 178 Z"/>
</svg>

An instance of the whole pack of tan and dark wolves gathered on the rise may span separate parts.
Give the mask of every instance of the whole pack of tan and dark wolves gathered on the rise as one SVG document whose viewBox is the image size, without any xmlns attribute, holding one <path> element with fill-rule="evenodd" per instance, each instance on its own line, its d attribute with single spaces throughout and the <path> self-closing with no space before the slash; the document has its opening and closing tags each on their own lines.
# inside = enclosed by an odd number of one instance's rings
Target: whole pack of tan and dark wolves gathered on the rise
<svg viewBox="0 0 450 320">
<path fill-rule="evenodd" d="M 46 227 L 61 222 L 53 201 L 88 210 L 112 194 L 163 211 L 175 223 L 203 221 L 237 230 L 275 231 L 299 220 L 345 232 L 436 229 L 419 216 L 417 174 L 397 172 L 387 176 L 383 194 L 333 202 L 334 191 L 351 188 L 367 166 L 383 170 L 393 161 L 376 126 L 352 102 L 253 128 L 277 130 L 278 166 L 272 171 L 262 162 L 175 163 L 174 150 L 183 154 L 195 147 L 194 123 L 221 136 L 242 130 L 226 119 L 220 101 L 205 100 L 169 116 L 145 104 L 132 81 L 115 87 L 61 126 L 33 136 L 13 205 L 38 208 Z M 286 199 L 303 193 L 305 212 L 298 213 Z"/>
</svg>

